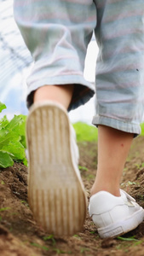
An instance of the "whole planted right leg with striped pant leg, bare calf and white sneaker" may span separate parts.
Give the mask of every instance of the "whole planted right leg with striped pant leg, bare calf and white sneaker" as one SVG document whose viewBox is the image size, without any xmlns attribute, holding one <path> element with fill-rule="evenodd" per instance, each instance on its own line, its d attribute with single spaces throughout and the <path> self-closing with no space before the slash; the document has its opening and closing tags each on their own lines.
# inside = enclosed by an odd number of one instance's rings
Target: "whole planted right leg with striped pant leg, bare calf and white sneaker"
<svg viewBox="0 0 144 256">
<path fill-rule="evenodd" d="M 108 237 L 135 229 L 144 218 L 144 210 L 119 190 L 132 137 L 141 132 L 144 113 L 144 2 L 95 0 L 95 4 L 100 54 L 93 124 L 98 125 L 99 152 L 89 213 L 100 236 Z"/>
</svg>

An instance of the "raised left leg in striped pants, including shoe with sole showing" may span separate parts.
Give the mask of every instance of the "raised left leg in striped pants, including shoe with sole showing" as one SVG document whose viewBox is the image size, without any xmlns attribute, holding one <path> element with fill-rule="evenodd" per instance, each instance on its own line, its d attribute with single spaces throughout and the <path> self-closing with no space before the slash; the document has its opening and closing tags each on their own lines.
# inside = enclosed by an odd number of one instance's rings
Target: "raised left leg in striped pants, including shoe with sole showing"
<svg viewBox="0 0 144 256">
<path fill-rule="evenodd" d="M 34 58 L 27 80 L 28 106 L 34 102 L 26 124 L 29 204 L 50 234 L 72 235 L 83 228 L 86 197 L 66 108 L 94 95 L 83 72 L 96 25 L 95 3 L 14 0 L 14 17 Z"/>
</svg>

